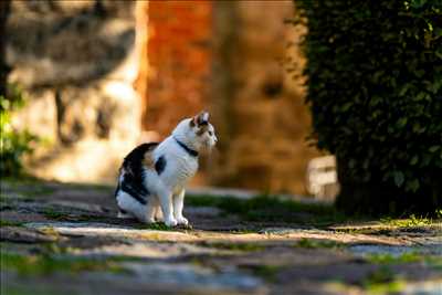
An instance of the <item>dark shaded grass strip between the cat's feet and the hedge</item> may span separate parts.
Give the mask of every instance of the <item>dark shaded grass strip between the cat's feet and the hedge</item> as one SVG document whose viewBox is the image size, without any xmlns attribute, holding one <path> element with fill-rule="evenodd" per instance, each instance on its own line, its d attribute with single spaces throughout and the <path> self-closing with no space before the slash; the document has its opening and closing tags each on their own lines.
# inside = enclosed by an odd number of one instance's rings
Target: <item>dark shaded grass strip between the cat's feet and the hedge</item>
<svg viewBox="0 0 442 295">
<path fill-rule="evenodd" d="M 333 206 L 302 203 L 270 196 L 257 196 L 248 200 L 232 197 L 188 196 L 186 203 L 193 207 L 217 207 L 224 213 L 241 217 L 244 221 L 293 222 L 326 226 L 346 220 L 346 217 Z"/>
</svg>

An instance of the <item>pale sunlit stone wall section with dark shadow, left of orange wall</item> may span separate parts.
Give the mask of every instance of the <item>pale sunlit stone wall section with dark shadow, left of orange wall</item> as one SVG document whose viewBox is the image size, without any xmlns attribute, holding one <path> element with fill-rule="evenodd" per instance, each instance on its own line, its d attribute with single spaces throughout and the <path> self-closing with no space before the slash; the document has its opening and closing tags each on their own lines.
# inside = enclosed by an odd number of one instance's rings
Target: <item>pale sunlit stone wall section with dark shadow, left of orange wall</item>
<svg viewBox="0 0 442 295">
<path fill-rule="evenodd" d="M 41 141 L 38 177 L 114 181 L 139 138 L 134 3 L 13 1 L 7 61 L 29 96 L 14 118 Z"/>
</svg>

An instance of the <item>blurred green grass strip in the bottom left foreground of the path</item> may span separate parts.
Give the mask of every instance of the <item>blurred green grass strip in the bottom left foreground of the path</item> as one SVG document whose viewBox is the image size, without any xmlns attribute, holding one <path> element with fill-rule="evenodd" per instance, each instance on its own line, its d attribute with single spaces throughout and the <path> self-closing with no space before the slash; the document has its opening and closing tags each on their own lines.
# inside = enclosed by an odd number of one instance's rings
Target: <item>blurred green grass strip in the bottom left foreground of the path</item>
<svg viewBox="0 0 442 295">
<path fill-rule="evenodd" d="M 76 274 L 80 272 L 113 272 L 123 271 L 113 261 L 94 259 L 56 259 L 52 255 L 20 255 L 1 252 L 1 270 L 12 270 L 19 275 L 48 275 L 56 272 Z"/>
</svg>

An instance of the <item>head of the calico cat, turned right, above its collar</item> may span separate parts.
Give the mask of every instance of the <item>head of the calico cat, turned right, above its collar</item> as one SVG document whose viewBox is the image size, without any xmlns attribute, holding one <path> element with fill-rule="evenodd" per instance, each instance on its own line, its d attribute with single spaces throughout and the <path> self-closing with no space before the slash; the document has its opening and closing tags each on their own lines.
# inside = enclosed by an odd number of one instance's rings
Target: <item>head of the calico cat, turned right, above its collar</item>
<svg viewBox="0 0 442 295">
<path fill-rule="evenodd" d="M 172 135 L 197 150 L 211 149 L 218 141 L 208 112 L 181 120 Z"/>
</svg>

